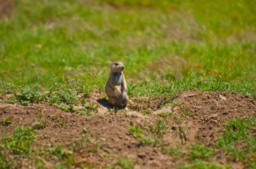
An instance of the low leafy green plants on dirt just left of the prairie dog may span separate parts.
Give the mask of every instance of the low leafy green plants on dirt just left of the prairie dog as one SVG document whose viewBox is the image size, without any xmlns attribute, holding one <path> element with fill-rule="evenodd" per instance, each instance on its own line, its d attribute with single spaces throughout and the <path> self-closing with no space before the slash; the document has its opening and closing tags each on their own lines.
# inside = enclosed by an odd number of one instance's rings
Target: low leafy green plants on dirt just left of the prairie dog
<svg viewBox="0 0 256 169">
<path fill-rule="evenodd" d="M 30 105 L 45 101 L 67 112 L 77 112 L 84 115 L 96 115 L 98 113 L 98 106 L 86 100 L 88 89 L 73 81 L 69 84 L 55 84 L 50 91 L 40 91 L 34 87 L 23 89 L 16 86 L 14 88 L 13 90 L 13 85 L 5 87 L 5 93 L 12 94 L 11 97 L 4 100 L 5 102 Z M 82 108 L 77 109 L 76 104 L 82 105 Z"/>
</svg>

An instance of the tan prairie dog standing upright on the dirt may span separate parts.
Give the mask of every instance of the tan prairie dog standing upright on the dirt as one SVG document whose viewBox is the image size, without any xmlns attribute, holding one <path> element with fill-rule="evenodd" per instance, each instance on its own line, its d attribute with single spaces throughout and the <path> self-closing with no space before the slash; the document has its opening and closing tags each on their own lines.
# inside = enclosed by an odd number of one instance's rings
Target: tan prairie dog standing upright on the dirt
<svg viewBox="0 0 256 169">
<path fill-rule="evenodd" d="M 123 74 L 124 69 L 123 62 L 113 62 L 110 66 L 110 75 L 105 87 L 110 105 L 124 107 L 128 105 L 129 100 L 127 96 L 127 84 Z"/>
</svg>

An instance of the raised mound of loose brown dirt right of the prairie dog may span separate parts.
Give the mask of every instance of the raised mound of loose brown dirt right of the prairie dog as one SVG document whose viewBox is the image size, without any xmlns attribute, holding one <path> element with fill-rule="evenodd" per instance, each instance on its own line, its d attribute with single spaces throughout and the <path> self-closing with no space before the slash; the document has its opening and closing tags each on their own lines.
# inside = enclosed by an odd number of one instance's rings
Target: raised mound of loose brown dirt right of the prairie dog
<svg viewBox="0 0 256 169">
<path fill-rule="evenodd" d="M 256 101 L 238 93 L 185 92 L 177 101 L 187 120 L 197 123 L 200 144 L 213 144 L 220 135 L 220 126 L 230 119 L 245 119 L 256 115 Z"/>
</svg>

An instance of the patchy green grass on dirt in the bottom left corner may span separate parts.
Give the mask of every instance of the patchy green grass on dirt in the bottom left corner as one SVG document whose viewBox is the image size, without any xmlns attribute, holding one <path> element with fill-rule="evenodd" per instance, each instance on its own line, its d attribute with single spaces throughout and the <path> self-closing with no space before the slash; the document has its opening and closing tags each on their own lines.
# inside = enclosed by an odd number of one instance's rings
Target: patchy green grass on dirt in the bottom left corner
<svg viewBox="0 0 256 169">
<path fill-rule="evenodd" d="M 88 166 L 90 163 L 75 162 L 73 159 L 79 153 L 100 154 L 104 140 L 96 140 L 90 136 L 82 134 L 82 138 L 69 146 L 44 146 L 36 147 L 36 130 L 30 127 L 18 126 L 13 129 L 9 136 L 0 139 L 0 168 L 19 168 L 20 162 L 30 163 L 36 168 L 45 168 L 45 164 L 55 164 L 55 168 L 70 168 L 75 166 Z M 120 158 L 119 166 L 131 166 L 133 163 L 129 159 Z"/>
</svg>

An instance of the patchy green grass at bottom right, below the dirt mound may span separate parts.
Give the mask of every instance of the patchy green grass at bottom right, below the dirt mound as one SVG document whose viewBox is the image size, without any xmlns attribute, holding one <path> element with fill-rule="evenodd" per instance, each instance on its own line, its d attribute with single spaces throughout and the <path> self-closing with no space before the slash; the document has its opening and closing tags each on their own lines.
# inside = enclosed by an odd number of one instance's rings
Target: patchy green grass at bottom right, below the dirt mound
<svg viewBox="0 0 256 169">
<path fill-rule="evenodd" d="M 163 113 L 160 116 L 169 117 L 166 114 Z M 253 135 L 255 119 L 255 117 L 249 117 L 248 119 L 230 120 L 224 126 L 224 133 L 218 137 L 215 146 L 195 144 L 185 147 L 181 144 L 174 148 L 168 142 L 162 142 L 162 137 L 169 127 L 161 119 L 158 119 L 155 124 L 149 123 L 146 127 L 137 127 L 131 123 L 132 127 L 129 132 L 138 139 L 142 146 L 160 148 L 163 154 L 181 160 L 180 168 L 231 168 L 236 163 L 243 163 L 247 168 L 255 168 L 256 139 Z M 185 137 L 183 127 L 179 127 L 179 132 L 179 137 L 183 142 Z M 222 156 L 226 164 L 216 162 L 219 156 Z"/>
</svg>

